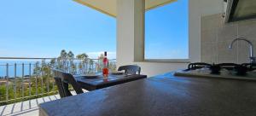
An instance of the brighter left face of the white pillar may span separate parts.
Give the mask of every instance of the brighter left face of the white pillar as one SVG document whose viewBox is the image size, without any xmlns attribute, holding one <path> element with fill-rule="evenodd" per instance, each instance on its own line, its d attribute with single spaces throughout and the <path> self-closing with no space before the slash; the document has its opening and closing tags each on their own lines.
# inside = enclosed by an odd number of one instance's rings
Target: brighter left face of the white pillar
<svg viewBox="0 0 256 116">
<path fill-rule="evenodd" d="M 131 64 L 134 58 L 134 3 L 117 1 L 117 65 Z"/>
</svg>

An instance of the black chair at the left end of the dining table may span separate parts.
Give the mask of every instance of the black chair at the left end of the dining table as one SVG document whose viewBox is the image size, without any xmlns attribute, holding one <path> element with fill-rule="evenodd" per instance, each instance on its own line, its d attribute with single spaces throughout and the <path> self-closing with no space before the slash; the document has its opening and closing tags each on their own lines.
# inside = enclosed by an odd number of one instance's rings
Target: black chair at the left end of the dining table
<svg viewBox="0 0 256 116">
<path fill-rule="evenodd" d="M 68 90 L 68 84 L 72 85 L 73 89 L 76 91 L 77 94 L 84 93 L 81 86 L 73 78 L 72 74 L 64 73 L 60 70 L 53 70 L 53 72 L 55 75 L 55 83 L 57 84 L 61 98 L 73 96 L 70 90 Z"/>
</svg>

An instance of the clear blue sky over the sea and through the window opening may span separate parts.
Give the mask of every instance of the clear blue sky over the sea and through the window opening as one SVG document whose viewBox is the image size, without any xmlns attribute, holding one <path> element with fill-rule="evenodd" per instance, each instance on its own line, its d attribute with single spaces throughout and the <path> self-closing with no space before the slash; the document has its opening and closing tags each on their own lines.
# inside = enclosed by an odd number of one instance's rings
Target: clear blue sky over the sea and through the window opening
<svg viewBox="0 0 256 116">
<path fill-rule="evenodd" d="M 146 13 L 146 58 L 187 56 L 186 1 Z M 106 50 L 115 58 L 116 20 L 73 0 L 5 0 L 0 17 L 0 56 L 56 57 L 66 49 L 92 58 Z"/>
</svg>

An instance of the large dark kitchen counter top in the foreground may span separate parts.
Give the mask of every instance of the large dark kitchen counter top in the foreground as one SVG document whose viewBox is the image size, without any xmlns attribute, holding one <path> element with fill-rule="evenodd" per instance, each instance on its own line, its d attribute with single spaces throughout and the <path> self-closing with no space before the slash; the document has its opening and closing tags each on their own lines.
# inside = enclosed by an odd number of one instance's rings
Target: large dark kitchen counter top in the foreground
<svg viewBox="0 0 256 116">
<path fill-rule="evenodd" d="M 45 102 L 39 112 L 42 116 L 255 116 L 256 83 L 166 73 Z"/>
</svg>

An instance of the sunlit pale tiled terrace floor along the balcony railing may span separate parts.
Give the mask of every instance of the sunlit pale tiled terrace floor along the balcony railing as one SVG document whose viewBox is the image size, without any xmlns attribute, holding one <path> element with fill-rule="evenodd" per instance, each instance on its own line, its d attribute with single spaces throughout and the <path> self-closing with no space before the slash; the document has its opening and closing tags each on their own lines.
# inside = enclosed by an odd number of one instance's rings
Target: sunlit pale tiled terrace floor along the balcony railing
<svg viewBox="0 0 256 116">
<path fill-rule="evenodd" d="M 84 90 L 84 92 L 86 92 Z M 72 92 L 75 95 L 75 92 Z M 38 99 L 32 99 L 25 102 L 16 102 L 13 104 L 0 106 L 0 116 L 38 116 L 38 106 L 43 102 L 50 102 L 60 99 L 59 95 L 44 96 Z"/>
</svg>

